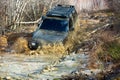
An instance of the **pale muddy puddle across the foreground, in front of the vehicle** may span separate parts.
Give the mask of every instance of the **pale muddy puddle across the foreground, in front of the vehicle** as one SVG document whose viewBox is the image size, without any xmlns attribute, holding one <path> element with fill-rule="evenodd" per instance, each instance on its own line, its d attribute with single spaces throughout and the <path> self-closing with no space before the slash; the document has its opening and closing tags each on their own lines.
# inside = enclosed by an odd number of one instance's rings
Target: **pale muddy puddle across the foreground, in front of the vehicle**
<svg viewBox="0 0 120 80">
<path fill-rule="evenodd" d="M 86 68 L 89 55 L 73 53 L 67 55 L 64 59 L 58 59 L 59 62 L 56 60 L 54 64 L 50 60 L 45 60 L 46 57 L 20 54 L 1 55 L 0 76 L 11 76 L 17 79 L 53 80 L 78 69 L 83 70 L 83 73 L 90 72 Z"/>
</svg>

